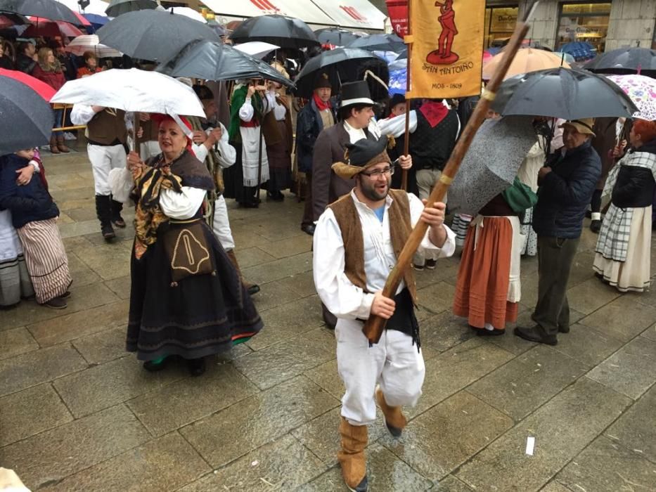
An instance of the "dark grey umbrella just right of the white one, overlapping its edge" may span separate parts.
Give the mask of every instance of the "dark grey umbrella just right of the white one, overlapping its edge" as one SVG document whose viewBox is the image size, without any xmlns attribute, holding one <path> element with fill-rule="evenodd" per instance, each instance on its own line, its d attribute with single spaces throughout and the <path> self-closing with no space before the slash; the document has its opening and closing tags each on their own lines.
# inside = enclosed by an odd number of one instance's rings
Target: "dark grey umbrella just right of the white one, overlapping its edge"
<svg viewBox="0 0 656 492">
<path fill-rule="evenodd" d="M 195 77 L 205 80 L 267 79 L 291 87 L 294 84 L 262 60 L 248 56 L 221 41 L 192 41 L 174 58 L 165 61 L 157 72 L 171 77 Z"/>
</svg>

